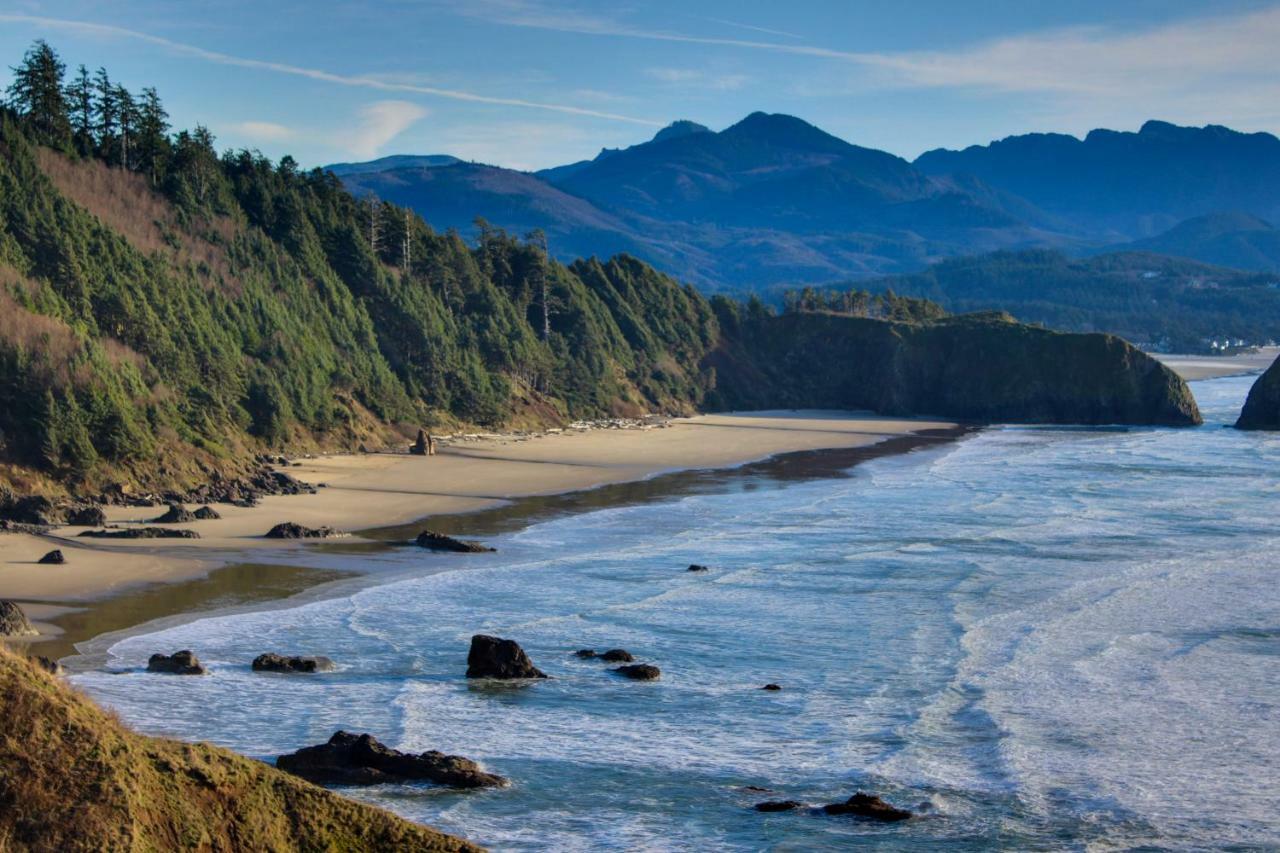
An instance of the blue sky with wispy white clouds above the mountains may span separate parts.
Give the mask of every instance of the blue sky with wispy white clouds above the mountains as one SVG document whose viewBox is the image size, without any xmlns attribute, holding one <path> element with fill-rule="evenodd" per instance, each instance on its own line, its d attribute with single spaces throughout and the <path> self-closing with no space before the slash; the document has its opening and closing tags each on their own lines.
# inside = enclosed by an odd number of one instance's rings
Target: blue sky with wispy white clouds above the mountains
<svg viewBox="0 0 1280 853">
<path fill-rule="evenodd" d="M 1280 132 L 1280 0 L 0 0 L 0 83 L 36 38 L 305 167 L 539 169 L 756 110 L 909 159 L 1151 118 Z"/>
</svg>

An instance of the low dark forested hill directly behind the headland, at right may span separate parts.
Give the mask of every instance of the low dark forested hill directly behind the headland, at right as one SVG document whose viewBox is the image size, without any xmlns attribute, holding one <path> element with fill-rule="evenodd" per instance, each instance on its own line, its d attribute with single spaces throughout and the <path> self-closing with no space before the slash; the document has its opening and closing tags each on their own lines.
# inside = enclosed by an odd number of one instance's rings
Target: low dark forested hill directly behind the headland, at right
<svg viewBox="0 0 1280 853">
<path fill-rule="evenodd" d="M 933 300 L 948 311 L 1004 310 L 1027 323 L 1111 332 L 1175 352 L 1213 339 L 1280 337 L 1280 282 L 1142 252 L 1073 259 L 1055 251 L 956 257 L 911 275 L 861 283 L 873 292 Z"/>
</svg>

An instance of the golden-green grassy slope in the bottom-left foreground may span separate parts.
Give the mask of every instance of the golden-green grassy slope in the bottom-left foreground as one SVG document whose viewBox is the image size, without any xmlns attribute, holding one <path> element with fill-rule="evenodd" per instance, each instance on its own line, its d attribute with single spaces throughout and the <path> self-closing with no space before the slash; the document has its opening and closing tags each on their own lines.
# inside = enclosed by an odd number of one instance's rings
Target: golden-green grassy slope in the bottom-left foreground
<svg viewBox="0 0 1280 853">
<path fill-rule="evenodd" d="M 0 850 L 475 850 L 209 744 L 147 738 L 0 648 Z"/>
</svg>

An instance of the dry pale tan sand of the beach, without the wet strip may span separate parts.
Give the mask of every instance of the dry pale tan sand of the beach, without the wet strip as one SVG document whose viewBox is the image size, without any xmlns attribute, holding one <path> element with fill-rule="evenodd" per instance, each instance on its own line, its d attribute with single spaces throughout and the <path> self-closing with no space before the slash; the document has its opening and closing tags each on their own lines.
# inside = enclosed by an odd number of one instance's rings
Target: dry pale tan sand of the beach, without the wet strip
<svg viewBox="0 0 1280 853">
<path fill-rule="evenodd" d="M 879 418 L 860 412 L 768 411 L 677 419 L 632 429 L 566 429 L 531 437 L 454 439 L 434 457 L 407 453 L 324 456 L 300 460 L 288 473 L 316 494 L 279 496 L 261 506 L 216 505 L 219 520 L 189 528 L 200 539 L 91 540 L 86 528 L 46 537 L 0 537 L 0 598 L 22 603 L 45 635 L 46 620 L 83 612 L 138 588 L 195 581 L 232 565 L 270 557 L 306 562 L 306 543 L 265 539 L 273 525 L 294 521 L 342 530 L 408 524 L 503 506 L 530 496 L 576 492 L 689 469 L 731 467 L 780 453 L 855 448 L 946 429 L 945 421 Z M 108 507 L 110 524 L 145 524 L 163 507 Z M 425 525 L 424 525 L 425 526 Z M 37 565 L 52 548 L 64 565 Z M 297 557 L 293 557 L 293 555 Z M 140 613 L 141 616 L 141 613 Z M 143 621 L 140 619 L 138 621 Z"/>
</svg>

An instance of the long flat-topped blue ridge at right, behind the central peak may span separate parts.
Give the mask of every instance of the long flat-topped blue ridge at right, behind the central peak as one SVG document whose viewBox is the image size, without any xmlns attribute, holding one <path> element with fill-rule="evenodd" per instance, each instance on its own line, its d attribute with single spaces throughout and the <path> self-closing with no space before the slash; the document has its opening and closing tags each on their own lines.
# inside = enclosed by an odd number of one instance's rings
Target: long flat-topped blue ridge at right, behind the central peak
<svg viewBox="0 0 1280 853">
<path fill-rule="evenodd" d="M 1158 234 L 1220 210 L 1280 220 L 1280 140 L 1225 127 L 1147 122 L 1137 133 L 1011 136 L 915 167 L 972 175 L 1108 242 Z"/>
</svg>

